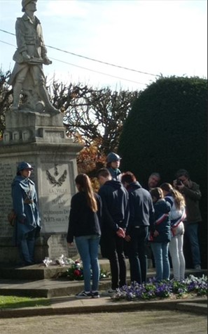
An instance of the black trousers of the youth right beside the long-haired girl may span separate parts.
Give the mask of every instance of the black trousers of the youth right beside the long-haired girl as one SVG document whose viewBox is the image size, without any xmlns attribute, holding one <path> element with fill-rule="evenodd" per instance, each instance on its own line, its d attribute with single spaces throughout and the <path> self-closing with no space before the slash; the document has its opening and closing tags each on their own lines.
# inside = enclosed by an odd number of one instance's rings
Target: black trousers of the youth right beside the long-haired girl
<svg viewBox="0 0 208 334">
<path fill-rule="evenodd" d="M 101 251 L 102 256 L 109 259 L 111 267 L 111 288 L 121 288 L 126 285 L 126 264 L 123 251 L 124 239 L 116 233 L 102 235 Z"/>
</svg>

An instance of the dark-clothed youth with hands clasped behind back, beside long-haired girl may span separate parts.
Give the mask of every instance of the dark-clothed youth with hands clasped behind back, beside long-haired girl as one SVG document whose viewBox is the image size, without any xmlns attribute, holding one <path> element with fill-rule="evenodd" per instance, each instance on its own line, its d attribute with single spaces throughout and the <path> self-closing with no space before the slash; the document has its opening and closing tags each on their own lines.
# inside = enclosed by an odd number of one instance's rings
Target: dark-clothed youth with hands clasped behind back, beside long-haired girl
<svg viewBox="0 0 208 334">
<path fill-rule="evenodd" d="M 120 181 L 112 179 L 108 169 L 99 169 L 99 195 L 103 203 L 102 256 L 109 259 L 111 266 L 111 290 L 126 285 L 126 264 L 123 251 L 125 230 L 129 220 L 128 193 Z"/>
</svg>

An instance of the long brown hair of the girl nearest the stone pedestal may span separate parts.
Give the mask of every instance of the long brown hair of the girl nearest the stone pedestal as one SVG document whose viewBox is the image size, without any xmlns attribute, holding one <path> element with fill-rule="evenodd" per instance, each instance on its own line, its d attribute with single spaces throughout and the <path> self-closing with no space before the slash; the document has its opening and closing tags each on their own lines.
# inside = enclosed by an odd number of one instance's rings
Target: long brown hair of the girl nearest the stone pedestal
<svg viewBox="0 0 208 334">
<path fill-rule="evenodd" d="M 90 209 L 93 212 L 97 212 L 97 201 L 95 200 L 89 176 L 87 174 L 78 174 L 75 182 L 79 186 L 78 191 L 83 191 L 85 193 Z"/>
</svg>

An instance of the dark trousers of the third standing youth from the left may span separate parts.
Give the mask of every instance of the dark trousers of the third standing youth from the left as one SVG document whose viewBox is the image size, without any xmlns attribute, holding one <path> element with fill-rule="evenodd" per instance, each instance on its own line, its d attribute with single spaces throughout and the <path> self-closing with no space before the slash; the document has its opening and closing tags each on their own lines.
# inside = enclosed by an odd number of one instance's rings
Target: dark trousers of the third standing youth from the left
<svg viewBox="0 0 208 334">
<path fill-rule="evenodd" d="M 146 239 L 148 226 L 139 226 L 130 231 L 131 240 L 127 243 L 127 254 L 130 262 L 130 277 L 132 282 L 146 282 L 147 256 Z"/>
</svg>

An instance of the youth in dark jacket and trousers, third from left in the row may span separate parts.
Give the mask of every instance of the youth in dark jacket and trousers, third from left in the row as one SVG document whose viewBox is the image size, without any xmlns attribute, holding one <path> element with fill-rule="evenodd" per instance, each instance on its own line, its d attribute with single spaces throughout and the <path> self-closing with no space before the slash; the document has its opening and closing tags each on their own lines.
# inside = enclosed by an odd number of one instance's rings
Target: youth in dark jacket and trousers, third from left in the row
<svg viewBox="0 0 208 334">
<path fill-rule="evenodd" d="M 125 236 L 130 276 L 132 282 L 141 284 L 146 282 L 146 240 L 148 226 L 154 222 L 153 200 L 132 172 L 124 173 L 121 182 L 129 193 L 130 202 L 130 220 Z"/>
</svg>

